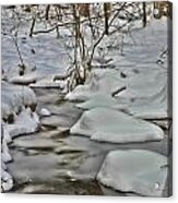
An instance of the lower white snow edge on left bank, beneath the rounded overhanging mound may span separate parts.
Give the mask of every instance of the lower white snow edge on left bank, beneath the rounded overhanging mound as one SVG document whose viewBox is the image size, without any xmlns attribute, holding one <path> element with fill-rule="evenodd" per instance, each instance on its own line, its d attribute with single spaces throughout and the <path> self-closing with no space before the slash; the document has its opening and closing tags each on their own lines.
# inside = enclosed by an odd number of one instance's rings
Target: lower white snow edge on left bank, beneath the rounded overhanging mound
<svg viewBox="0 0 178 203">
<path fill-rule="evenodd" d="M 7 171 L 7 163 L 12 162 L 8 144 L 17 135 L 35 132 L 39 127 L 39 119 L 36 112 L 32 112 L 31 108 L 22 109 L 20 115 L 14 116 L 14 123 L 8 124 L 2 121 L 2 143 L 1 143 L 1 187 L 3 191 L 9 191 L 13 187 L 13 178 Z"/>
</svg>

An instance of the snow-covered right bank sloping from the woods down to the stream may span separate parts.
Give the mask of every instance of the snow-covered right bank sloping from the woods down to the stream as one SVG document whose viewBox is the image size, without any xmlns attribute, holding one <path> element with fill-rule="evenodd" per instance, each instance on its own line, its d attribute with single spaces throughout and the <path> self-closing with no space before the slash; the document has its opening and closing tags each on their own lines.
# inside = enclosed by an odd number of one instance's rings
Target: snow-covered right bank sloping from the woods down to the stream
<svg viewBox="0 0 178 203">
<path fill-rule="evenodd" d="M 137 118 L 167 119 L 168 56 L 162 56 L 168 47 L 167 29 L 167 19 L 163 17 L 152 20 L 143 29 L 123 35 L 119 44 L 123 55 L 119 47 L 108 48 L 107 57 L 112 59 L 115 70 L 93 69 L 86 83 L 66 98 L 84 101 L 76 105 L 83 109 L 109 106 Z"/>
</svg>

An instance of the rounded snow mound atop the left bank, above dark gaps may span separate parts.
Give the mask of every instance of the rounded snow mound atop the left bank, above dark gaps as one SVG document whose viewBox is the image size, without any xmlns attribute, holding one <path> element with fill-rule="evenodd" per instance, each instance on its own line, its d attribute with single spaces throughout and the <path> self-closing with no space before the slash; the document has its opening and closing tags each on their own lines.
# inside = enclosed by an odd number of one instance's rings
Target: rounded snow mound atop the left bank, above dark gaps
<svg viewBox="0 0 178 203">
<path fill-rule="evenodd" d="M 36 105 L 36 95 L 27 86 L 1 83 L 1 117 L 7 119 L 9 115 L 17 114 L 22 107 Z"/>
</svg>

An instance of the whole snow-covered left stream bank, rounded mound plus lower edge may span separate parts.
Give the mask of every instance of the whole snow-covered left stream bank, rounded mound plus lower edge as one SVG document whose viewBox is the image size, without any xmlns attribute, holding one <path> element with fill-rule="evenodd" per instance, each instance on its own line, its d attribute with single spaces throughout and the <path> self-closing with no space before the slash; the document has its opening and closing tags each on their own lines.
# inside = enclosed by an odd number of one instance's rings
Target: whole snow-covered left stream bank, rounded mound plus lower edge
<svg viewBox="0 0 178 203">
<path fill-rule="evenodd" d="M 1 186 L 2 191 L 13 187 L 13 178 L 5 164 L 13 160 L 8 144 L 17 135 L 38 130 L 39 118 L 35 112 L 36 95 L 26 86 L 1 83 Z"/>
</svg>

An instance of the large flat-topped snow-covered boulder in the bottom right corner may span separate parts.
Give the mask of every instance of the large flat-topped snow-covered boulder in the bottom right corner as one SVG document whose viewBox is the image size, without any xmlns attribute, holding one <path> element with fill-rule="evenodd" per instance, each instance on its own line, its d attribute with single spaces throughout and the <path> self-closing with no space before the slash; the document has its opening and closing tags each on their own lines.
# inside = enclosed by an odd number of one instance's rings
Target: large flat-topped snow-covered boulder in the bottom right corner
<svg viewBox="0 0 178 203">
<path fill-rule="evenodd" d="M 122 192 L 162 196 L 167 172 L 167 157 L 163 155 L 145 150 L 112 151 L 106 156 L 97 180 Z"/>
</svg>

